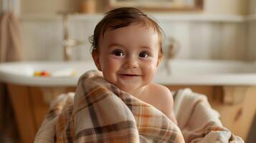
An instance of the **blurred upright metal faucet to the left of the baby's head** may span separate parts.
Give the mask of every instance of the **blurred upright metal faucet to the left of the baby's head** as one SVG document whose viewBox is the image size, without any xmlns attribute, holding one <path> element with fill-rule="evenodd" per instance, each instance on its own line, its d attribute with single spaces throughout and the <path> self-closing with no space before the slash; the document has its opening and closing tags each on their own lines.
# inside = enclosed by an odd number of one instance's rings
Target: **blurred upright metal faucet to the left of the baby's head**
<svg viewBox="0 0 256 143">
<path fill-rule="evenodd" d="M 72 47 L 73 46 L 80 46 L 84 44 L 84 41 L 78 41 L 76 39 L 71 39 L 69 34 L 69 14 L 63 14 L 63 33 L 64 33 L 64 41 L 63 41 L 63 48 L 64 48 L 64 60 L 70 61 L 72 59 Z"/>
</svg>

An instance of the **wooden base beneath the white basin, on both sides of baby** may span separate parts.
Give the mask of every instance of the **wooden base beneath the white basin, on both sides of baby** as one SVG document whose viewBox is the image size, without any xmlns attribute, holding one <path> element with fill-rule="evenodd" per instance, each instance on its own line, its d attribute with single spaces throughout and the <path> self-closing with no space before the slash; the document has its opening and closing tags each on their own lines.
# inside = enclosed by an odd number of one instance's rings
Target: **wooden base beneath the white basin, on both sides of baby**
<svg viewBox="0 0 256 143">
<path fill-rule="evenodd" d="M 207 95 L 212 108 L 221 115 L 224 127 L 234 134 L 247 138 L 256 111 L 255 87 L 247 89 L 241 102 L 236 104 L 223 101 L 223 87 L 214 86 L 166 86 L 172 91 L 191 88 L 192 91 Z M 57 94 L 75 92 L 75 87 L 25 87 L 9 84 L 9 96 L 16 117 L 19 135 L 23 143 L 33 142 L 45 114 L 49 109 L 49 101 Z M 48 94 L 47 97 L 45 94 Z M 46 98 L 47 97 L 47 98 Z"/>
</svg>

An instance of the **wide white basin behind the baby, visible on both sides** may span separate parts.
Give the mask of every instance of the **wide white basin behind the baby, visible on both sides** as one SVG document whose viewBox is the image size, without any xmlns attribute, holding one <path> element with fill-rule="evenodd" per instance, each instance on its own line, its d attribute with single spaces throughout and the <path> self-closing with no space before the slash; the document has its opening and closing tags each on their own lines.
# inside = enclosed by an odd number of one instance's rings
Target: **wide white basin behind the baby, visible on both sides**
<svg viewBox="0 0 256 143">
<path fill-rule="evenodd" d="M 169 85 L 256 85 L 256 64 L 242 61 L 171 60 L 170 73 L 164 61 L 154 82 Z M 96 69 L 93 61 L 21 61 L 0 64 L 0 80 L 38 87 L 75 87 L 87 70 Z M 48 71 L 50 77 L 34 77 Z M 75 76 L 71 72 L 75 71 Z"/>
</svg>

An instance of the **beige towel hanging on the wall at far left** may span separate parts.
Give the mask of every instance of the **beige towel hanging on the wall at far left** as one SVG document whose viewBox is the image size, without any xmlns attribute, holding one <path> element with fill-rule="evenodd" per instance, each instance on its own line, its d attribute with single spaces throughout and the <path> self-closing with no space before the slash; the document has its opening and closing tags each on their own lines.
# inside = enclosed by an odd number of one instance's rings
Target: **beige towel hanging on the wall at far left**
<svg viewBox="0 0 256 143">
<path fill-rule="evenodd" d="M 0 62 L 22 60 L 19 20 L 12 12 L 5 12 L 1 15 L 0 22 Z"/>
</svg>

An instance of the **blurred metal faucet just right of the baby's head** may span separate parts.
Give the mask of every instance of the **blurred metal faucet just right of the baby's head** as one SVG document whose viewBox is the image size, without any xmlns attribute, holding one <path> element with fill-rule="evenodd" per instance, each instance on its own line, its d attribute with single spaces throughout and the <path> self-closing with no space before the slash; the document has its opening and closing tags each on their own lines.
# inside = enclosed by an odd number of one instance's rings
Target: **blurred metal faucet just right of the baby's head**
<svg viewBox="0 0 256 143">
<path fill-rule="evenodd" d="M 170 59 L 173 59 L 176 54 L 178 53 L 179 51 L 179 42 L 176 41 L 176 39 L 174 38 L 169 38 L 169 45 L 167 46 L 167 49 L 166 49 L 166 54 L 165 54 L 165 66 L 166 66 L 166 71 L 167 71 L 167 74 L 171 74 L 171 65 L 170 65 L 170 62 L 171 61 Z"/>
</svg>

